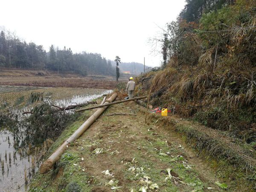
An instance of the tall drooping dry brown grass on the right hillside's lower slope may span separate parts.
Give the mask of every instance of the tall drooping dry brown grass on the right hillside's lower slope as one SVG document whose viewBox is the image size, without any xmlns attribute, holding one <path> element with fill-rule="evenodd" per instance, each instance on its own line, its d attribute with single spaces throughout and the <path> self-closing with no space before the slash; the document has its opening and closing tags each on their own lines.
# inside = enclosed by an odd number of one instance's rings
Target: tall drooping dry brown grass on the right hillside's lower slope
<svg viewBox="0 0 256 192">
<path fill-rule="evenodd" d="M 243 133 L 247 137 L 244 140 L 252 142 L 253 134 L 246 131 L 253 126 L 256 109 L 256 67 L 249 63 L 239 67 L 241 63 L 237 59 L 228 57 L 221 61 L 226 61 L 224 64 L 217 63 L 219 67 L 213 73 L 207 64 L 192 69 L 167 67 L 139 84 L 138 94 L 152 87 L 152 95 L 160 93 L 151 100 L 154 107 L 169 108 L 184 117 L 200 116 L 200 122 L 205 125 L 230 131 L 238 138 Z M 248 67 L 252 70 L 248 71 Z"/>
</svg>

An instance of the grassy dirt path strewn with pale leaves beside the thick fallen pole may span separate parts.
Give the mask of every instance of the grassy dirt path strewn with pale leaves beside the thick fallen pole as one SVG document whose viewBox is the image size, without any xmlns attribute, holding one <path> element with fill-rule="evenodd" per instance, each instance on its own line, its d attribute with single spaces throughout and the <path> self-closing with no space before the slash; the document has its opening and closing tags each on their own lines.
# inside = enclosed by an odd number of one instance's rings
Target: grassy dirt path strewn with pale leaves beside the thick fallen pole
<svg viewBox="0 0 256 192">
<path fill-rule="evenodd" d="M 215 184 L 221 179 L 198 154 L 168 131 L 169 125 L 145 125 L 139 108 L 134 102 L 109 107 L 67 149 L 55 171 L 36 177 L 45 180 L 41 187 L 82 192 L 221 191 Z M 114 112 L 137 116 L 107 116 Z"/>
</svg>

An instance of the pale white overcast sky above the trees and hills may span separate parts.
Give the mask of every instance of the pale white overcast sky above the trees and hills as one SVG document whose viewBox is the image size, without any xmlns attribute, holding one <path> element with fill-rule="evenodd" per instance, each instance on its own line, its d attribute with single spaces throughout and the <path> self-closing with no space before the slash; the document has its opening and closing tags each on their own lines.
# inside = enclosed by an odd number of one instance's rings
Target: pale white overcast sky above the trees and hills
<svg viewBox="0 0 256 192">
<path fill-rule="evenodd" d="M 73 52 L 98 52 L 114 60 L 159 66 L 148 39 L 176 20 L 185 0 L 2 0 L 0 26 L 17 36 Z"/>
</svg>

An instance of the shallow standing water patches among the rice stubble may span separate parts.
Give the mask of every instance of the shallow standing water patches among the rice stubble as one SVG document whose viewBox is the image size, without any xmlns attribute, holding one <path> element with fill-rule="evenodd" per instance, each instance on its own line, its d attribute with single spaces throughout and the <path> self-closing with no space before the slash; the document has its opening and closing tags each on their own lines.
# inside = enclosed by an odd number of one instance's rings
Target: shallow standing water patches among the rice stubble
<svg viewBox="0 0 256 192">
<path fill-rule="evenodd" d="M 12 93 L 19 91 L 35 90 L 31 87 L 16 87 L 16 86 L 0 86 L 0 93 Z M 91 101 L 104 94 L 111 93 L 112 90 L 100 90 L 94 89 L 87 90 L 83 89 L 83 93 L 74 95 L 65 99 L 57 99 L 54 102 L 55 105 L 60 107 L 68 105 L 81 104 L 86 101 Z M 61 97 L 60 97 L 61 98 Z M 20 114 L 22 111 L 31 111 L 32 106 L 26 106 L 21 109 L 15 109 L 16 114 Z M 39 164 L 32 163 L 32 156 L 22 154 L 22 151 L 17 151 L 17 143 L 14 142 L 12 132 L 8 130 L 0 130 L 0 192 L 9 191 L 26 191 L 25 185 L 25 172 L 27 179 L 31 179 L 32 175 L 38 170 Z M 34 157 L 33 157 L 34 158 Z M 34 169 L 32 169 L 34 167 Z"/>
</svg>

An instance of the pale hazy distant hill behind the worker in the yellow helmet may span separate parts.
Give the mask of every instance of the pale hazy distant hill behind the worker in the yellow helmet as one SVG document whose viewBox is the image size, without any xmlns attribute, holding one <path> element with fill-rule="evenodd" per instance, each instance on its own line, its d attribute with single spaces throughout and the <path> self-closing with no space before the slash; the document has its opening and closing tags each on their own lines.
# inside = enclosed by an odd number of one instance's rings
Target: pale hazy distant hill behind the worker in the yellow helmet
<svg viewBox="0 0 256 192">
<path fill-rule="evenodd" d="M 116 66 L 115 61 L 111 61 L 111 64 L 113 65 L 113 67 Z M 144 64 L 137 63 L 137 62 L 130 62 L 130 63 L 121 62 L 121 64 L 119 64 L 119 68 L 121 73 L 127 73 L 131 75 L 140 75 L 140 73 L 144 72 Z M 148 66 L 145 65 L 145 71 L 147 69 L 148 69 Z"/>
</svg>

